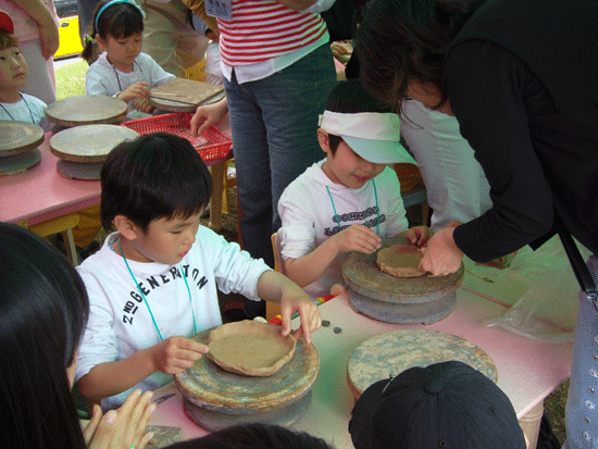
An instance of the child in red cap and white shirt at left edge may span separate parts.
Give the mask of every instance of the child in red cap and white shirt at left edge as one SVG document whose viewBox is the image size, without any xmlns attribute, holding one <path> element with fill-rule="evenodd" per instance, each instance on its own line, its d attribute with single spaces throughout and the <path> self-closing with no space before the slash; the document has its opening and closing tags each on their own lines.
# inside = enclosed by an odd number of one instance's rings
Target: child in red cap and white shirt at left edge
<svg viewBox="0 0 598 449">
<path fill-rule="evenodd" d="M 33 123 L 49 130 L 46 103 L 20 91 L 27 75 L 27 63 L 18 48 L 13 21 L 0 11 L 0 121 Z"/>
</svg>

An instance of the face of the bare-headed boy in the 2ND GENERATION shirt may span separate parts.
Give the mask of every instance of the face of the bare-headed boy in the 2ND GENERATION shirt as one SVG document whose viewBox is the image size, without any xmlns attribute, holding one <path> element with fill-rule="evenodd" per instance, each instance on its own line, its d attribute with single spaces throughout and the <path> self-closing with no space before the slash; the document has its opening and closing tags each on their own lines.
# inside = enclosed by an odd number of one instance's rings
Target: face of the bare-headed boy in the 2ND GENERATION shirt
<svg viewBox="0 0 598 449">
<path fill-rule="evenodd" d="M 162 217 L 152 221 L 146 233 L 138 232 L 130 241 L 127 259 L 137 262 L 160 262 L 174 265 L 183 260 L 196 241 L 200 213 L 188 219 Z"/>
</svg>

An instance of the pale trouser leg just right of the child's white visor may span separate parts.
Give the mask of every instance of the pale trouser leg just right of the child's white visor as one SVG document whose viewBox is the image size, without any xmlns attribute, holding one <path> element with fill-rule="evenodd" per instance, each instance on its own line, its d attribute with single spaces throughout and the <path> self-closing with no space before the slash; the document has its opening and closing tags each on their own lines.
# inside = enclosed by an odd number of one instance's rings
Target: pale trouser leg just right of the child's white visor
<svg viewBox="0 0 598 449">
<path fill-rule="evenodd" d="M 432 229 L 452 220 L 469 222 L 491 207 L 490 187 L 473 149 L 459 133 L 457 119 L 404 101 L 401 135 L 420 165 L 434 210 Z"/>
</svg>

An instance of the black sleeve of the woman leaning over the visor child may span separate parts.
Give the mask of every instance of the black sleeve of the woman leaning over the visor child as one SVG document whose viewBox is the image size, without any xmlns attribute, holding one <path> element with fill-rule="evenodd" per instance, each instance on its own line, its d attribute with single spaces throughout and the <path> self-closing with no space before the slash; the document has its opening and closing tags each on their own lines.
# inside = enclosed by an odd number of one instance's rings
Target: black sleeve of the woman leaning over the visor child
<svg viewBox="0 0 598 449">
<path fill-rule="evenodd" d="M 537 79 L 503 48 L 457 46 L 445 64 L 450 105 L 490 185 L 493 208 L 454 230 L 457 246 L 486 262 L 551 230 L 552 194 L 532 145 L 524 92 Z"/>
</svg>

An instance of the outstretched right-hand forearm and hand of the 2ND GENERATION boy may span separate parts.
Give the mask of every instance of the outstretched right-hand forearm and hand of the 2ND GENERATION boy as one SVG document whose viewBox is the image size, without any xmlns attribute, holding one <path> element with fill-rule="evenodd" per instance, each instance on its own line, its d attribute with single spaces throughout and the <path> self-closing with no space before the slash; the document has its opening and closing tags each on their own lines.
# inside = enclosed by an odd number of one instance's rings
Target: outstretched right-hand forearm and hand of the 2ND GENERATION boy
<svg viewBox="0 0 598 449">
<path fill-rule="evenodd" d="M 283 336 L 290 334 L 290 320 L 299 312 L 301 327 L 295 336 L 299 338 L 302 334 L 306 341 L 311 342 L 311 333 L 322 326 L 322 316 L 317 305 L 301 287 L 283 274 L 269 270 L 258 279 L 258 295 L 265 301 L 281 303 Z"/>
</svg>

